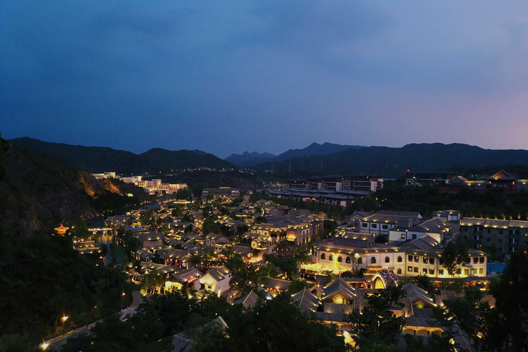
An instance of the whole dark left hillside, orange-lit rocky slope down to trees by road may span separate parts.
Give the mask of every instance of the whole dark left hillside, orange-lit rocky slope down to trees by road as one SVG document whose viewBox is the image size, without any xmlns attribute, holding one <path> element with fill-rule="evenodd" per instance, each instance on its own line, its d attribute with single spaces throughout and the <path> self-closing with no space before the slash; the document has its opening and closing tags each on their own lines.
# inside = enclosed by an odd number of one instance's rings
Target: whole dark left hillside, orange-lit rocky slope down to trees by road
<svg viewBox="0 0 528 352">
<path fill-rule="evenodd" d="M 137 206 L 138 197 L 145 192 L 134 185 L 98 181 L 0 138 L 0 351 L 41 351 L 69 325 L 130 305 L 124 273 L 100 265 L 99 254 L 81 255 L 73 236 L 50 235 L 63 221 L 85 230 L 79 217 Z"/>
</svg>

